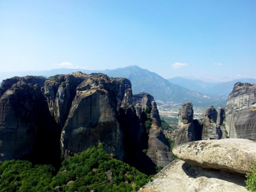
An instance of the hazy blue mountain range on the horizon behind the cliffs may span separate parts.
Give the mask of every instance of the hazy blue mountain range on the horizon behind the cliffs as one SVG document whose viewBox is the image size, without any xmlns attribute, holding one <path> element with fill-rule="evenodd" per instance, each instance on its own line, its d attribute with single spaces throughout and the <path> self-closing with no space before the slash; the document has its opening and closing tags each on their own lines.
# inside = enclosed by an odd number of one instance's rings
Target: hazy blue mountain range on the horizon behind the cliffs
<svg viewBox="0 0 256 192">
<path fill-rule="evenodd" d="M 147 69 L 138 66 L 128 66 L 107 70 L 85 70 L 85 69 L 52 69 L 44 71 L 24 71 L 16 76 L 53 76 L 57 74 L 69 74 L 81 71 L 86 74 L 103 73 L 109 77 L 125 77 L 132 83 L 133 93 L 147 92 L 153 95 L 158 106 L 173 107 L 182 106 L 185 102 L 192 102 L 194 107 L 206 108 L 209 106 L 225 107 L 229 93 L 233 90 L 236 82 L 256 83 L 256 79 L 238 79 L 225 83 L 209 83 L 198 79 L 174 77 L 164 79 Z M 0 73 L 0 77 L 8 74 Z M 5 77 L 5 78 L 10 78 Z"/>
</svg>

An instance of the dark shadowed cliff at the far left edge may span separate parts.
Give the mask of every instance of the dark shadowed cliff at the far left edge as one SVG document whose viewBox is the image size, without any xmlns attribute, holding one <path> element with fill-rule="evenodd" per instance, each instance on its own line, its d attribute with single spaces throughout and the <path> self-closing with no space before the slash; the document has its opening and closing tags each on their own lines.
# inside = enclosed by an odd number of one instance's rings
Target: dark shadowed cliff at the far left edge
<svg viewBox="0 0 256 192">
<path fill-rule="evenodd" d="M 48 141 L 51 140 L 54 127 L 52 132 L 48 128 L 52 124 L 41 92 L 44 81 L 43 77 L 26 76 L 3 82 L 0 98 L 0 161 L 17 159 L 32 151 L 35 155 L 38 144 L 42 146 L 38 141 L 45 136 L 42 130 L 51 133 Z"/>
</svg>

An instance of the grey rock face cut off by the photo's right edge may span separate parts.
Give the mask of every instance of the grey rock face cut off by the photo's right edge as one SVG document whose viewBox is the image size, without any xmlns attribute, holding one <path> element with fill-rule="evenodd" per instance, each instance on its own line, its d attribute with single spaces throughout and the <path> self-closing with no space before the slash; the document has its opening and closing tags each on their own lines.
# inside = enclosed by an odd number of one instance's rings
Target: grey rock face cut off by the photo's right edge
<svg viewBox="0 0 256 192">
<path fill-rule="evenodd" d="M 236 83 L 226 105 L 229 138 L 256 141 L 256 84 Z"/>
</svg>

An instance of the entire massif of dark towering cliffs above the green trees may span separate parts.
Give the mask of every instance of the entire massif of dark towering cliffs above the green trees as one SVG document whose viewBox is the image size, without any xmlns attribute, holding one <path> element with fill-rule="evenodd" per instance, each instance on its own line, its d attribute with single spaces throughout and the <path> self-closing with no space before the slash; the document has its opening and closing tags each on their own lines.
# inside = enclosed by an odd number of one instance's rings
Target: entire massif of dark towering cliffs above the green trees
<svg viewBox="0 0 256 192">
<path fill-rule="evenodd" d="M 133 95 L 126 78 L 13 77 L 3 81 L 0 96 L 0 161 L 54 159 L 60 152 L 67 158 L 99 142 L 133 166 L 172 161 L 153 96 Z"/>
</svg>

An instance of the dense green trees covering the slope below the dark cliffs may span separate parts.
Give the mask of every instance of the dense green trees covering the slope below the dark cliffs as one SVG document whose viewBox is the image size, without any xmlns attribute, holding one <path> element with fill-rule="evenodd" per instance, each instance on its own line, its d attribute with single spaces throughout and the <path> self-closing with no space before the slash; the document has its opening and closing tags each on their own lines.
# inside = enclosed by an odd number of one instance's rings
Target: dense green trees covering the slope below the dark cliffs
<svg viewBox="0 0 256 192">
<path fill-rule="evenodd" d="M 63 160 L 59 170 L 29 161 L 0 165 L 0 191 L 137 191 L 152 175 L 107 154 L 100 143 Z M 54 189 L 55 188 L 55 189 Z"/>
</svg>

